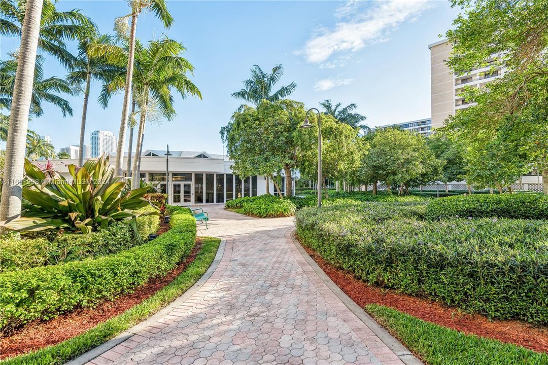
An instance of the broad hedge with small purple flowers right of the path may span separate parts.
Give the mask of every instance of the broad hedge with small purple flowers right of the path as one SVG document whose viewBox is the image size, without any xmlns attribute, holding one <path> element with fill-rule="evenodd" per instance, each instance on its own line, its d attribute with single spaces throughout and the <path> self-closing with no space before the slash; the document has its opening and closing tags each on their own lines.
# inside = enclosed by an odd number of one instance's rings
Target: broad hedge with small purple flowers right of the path
<svg viewBox="0 0 548 365">
<path fill-rule="evenodd" d="M 431 204 L 431 203 L 430 203 Z M 302 244 L 359 280 L 489 317 L 548 324 L 548 224 L 423 219 L 417 204 L 296 213 Z"/>
</svg>

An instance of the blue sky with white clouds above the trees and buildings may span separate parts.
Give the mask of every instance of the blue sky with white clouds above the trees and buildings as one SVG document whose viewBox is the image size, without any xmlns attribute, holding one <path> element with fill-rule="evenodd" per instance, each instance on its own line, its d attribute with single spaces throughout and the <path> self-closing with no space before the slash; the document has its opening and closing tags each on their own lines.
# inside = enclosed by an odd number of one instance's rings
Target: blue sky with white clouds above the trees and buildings
<svg viewBox="0 0 548 365">
<path fill-rule="evenodd" d="M 113 21 L 128 13 L 125 1 L 65 1 L 58 9 L 82 9 L 102 33 L 112 33 Z M 291 98 L 318 107 L 331 99 L 356 103 L 369 126 L 430 117 L 430 53 L 452 24 L 457 12 L 448 1 L 168 1 L 175 18 L 165 30 L 151 13 L 141 15 L 138 37 L 146 42 L 162 34 L 187 48 L 195 65 L 195 84 L 203 100 L 176 97 L 177 117 L 148 125 L 145 148 L 206 150 L 221 153 L 219 129 L 242 103 L 230 94 L 242 88 L 249 69 L 270 69 L 283 63 L 280 85 L 298 84 Z M 2 38 L 0 55 L 19 46 L 19 39 Z M 73 45 L 71 45 L 73 47 Z M 46 77 L 66 71 L 48 57 Z M 109 107 L 96 102 L 93 85 L 88 109 L 86 143 L 93 130 L 118 134 L 122 95 Z M 68 97 L 74 109 L 63 118 L 45 107 L 30 128 L 49 135 L 57 150 L 78 144 L 82 97 Z"/>
</svg>

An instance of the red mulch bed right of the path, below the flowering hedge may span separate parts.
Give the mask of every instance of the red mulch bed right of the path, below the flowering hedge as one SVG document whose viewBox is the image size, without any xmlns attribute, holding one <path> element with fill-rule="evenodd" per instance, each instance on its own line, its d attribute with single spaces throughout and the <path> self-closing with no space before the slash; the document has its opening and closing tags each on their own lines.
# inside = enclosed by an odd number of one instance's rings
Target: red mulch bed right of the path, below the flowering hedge
<svg viewBox="0 0 548 365">
<path fill-rule="evenodd" d="M 548 353 L 548 328 L 546 327 L 533 327 L 518 321 L 491 321 L 481 315 L 465 314 L 458 309 L 447 308 L 429 299 L 411 297 L 374 287 L 357 280 L 344 270 L 335 268 L 315 251 L 303 247 L 330 279 L 361 308 L 368 304 L 386 305 L 439 326 Z"/>
</svg>

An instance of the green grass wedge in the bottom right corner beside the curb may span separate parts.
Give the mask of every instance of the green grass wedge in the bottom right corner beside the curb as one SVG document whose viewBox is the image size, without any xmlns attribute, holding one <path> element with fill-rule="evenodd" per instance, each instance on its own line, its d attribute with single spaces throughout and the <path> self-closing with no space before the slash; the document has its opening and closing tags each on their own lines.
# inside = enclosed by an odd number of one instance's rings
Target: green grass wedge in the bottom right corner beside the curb
<svg viewBox="0 0 548 365">
<path fill-rule="evenodd" d="M 547 354 L 476 335 L 466 335 L 387 306 L 370 304 L 366 310 L 429 365 L 548 364 Z"/>
</svg>

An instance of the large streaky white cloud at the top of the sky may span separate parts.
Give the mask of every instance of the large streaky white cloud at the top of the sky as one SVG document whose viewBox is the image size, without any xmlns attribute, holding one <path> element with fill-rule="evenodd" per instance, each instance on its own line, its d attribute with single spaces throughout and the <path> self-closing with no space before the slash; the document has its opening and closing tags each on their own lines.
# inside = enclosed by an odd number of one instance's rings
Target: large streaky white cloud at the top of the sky
<svg viewBox="0 0 548 365">
<path fill-rule="evenodd" d="M 308 62 L 321 63 L 335 52 L 353 52 L 368 44 L 384 42 L 399 24 L 414 20 L 429 6 L 426 0 L 347 2 L 335 11 L 335 17 L 343 20 L 332 30 L 323 28 L 295 54 L 303 55 Z"/>
</svg>

